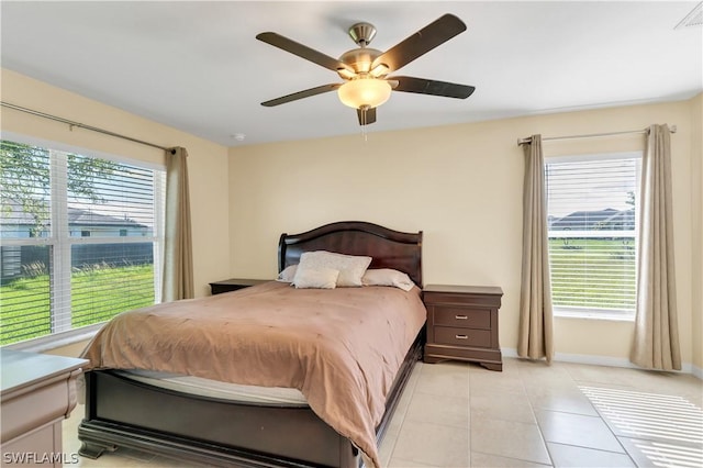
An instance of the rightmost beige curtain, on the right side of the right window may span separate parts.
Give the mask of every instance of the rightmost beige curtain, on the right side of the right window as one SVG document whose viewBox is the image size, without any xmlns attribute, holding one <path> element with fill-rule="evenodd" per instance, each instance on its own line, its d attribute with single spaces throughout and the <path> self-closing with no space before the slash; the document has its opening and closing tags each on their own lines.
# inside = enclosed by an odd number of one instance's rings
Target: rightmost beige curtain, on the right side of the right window
<svg viewBox="0 0 703 468">
<path fill-rule="evenodd" d="M 673 270 L 671 142 L 669 127 L 651 125 L 641 161 L 637 313 L 631 361 L 680 370 Z"/>
</svg>

